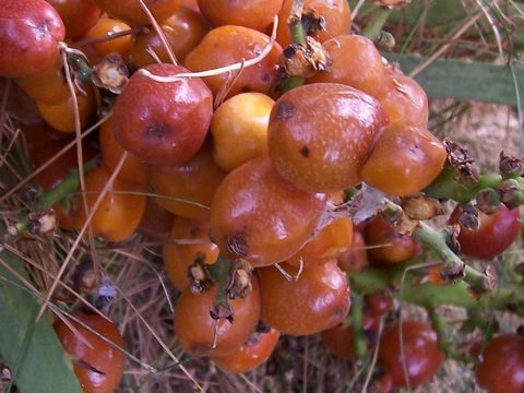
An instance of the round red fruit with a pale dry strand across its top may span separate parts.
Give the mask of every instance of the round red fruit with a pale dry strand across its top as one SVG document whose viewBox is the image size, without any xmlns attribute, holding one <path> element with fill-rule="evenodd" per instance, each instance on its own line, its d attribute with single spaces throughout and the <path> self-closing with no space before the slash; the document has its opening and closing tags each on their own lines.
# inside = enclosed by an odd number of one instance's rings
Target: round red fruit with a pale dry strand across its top
<svg viewBox="0 0 524 393">
<path fill-rule="evenodd" d="M 145 70 L 160 76 L 187 72 L 172 64 Z M 181 165 L 204 143 L 212 115 L 213 96 L 200 79 L 163 83 L 139 71 L 115 103 L 112 127 L 122 147 L 142 160 Z"/>
</svg>

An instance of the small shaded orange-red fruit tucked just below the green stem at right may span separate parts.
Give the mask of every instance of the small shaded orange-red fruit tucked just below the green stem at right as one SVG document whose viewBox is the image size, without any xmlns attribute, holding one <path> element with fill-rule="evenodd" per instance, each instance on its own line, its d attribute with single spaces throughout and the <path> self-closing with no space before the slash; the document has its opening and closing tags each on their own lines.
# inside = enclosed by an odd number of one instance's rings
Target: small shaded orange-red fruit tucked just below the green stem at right
<svg viewBox="0 0 524 393">
<path fill-rule="evenodd" d="M 374 265 L 388 266 L 414 258 L 418 251 L 415 240 L 401 235 L 382 217 L 376 217 L 365 231 L 366 245 L 371 246 L 368 257 Z M 381 247 L 377 247 L 381 246 Z"/>
</svg>

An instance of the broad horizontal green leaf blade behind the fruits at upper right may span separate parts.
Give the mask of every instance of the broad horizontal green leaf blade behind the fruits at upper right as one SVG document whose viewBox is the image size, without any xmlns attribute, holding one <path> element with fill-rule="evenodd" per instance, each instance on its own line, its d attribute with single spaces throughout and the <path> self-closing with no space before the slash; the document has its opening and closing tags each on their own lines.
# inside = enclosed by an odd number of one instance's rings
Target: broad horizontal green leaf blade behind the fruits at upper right
<svg viewBox="0 0 524 393">
<path fill-rule="evenodd" d="M 389 61 L 400 63 L 406 74 L 427 60 L 398 53 L 383 56 Z M 515 66 L 513 71 L 514 74 L 509 66 L 438 59 L 415 79 L 430 98 L 453 97 L 458 100 L 474 99 L 516 107 L 519 96 L 524 96 L 524 68 Z"/>
</svg>

